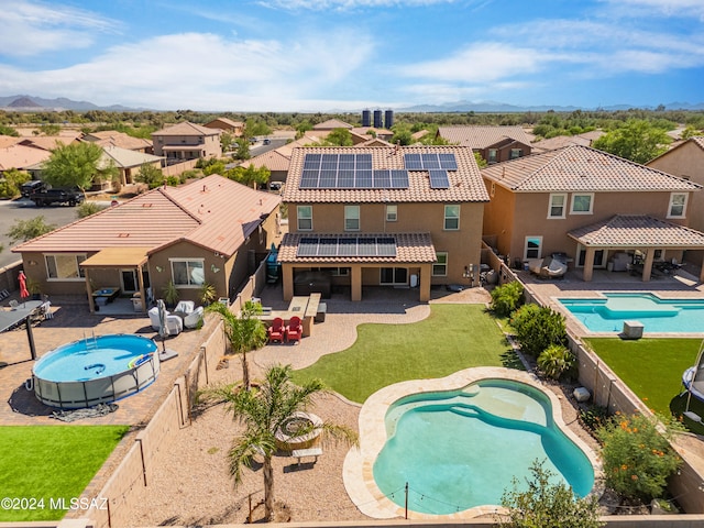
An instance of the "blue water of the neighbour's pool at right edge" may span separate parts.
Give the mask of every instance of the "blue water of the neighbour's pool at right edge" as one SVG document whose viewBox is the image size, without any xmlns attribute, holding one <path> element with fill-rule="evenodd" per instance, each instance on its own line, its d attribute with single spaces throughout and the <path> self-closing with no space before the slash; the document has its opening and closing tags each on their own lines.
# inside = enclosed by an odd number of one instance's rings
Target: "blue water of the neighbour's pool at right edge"
<svg viewBox="0 0 704 528">
<path fill-rule="evenodd" d="M 620 332 L 636 320 L 646 332 L 704 332 L 704 300 L 651 294 L 604 294 L 603 299 L 558 299 L 592 332 Z"/>
</svg>

